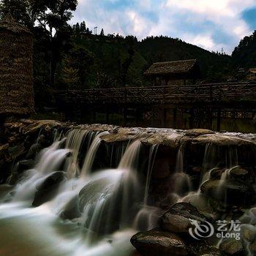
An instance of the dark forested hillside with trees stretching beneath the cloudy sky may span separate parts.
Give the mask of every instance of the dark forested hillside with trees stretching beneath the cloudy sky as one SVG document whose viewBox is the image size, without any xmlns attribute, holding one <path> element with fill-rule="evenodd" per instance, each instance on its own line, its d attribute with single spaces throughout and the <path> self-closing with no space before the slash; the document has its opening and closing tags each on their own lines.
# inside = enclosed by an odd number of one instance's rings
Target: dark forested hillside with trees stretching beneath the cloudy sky
<svg viewBox="0 0 256 256">
<path fill-rule="evenodd" d="M 143 73 L 156 61 L 198 59 L 202 81 L 221 82 L 239 67 L 256 66 L 256 32 L 241 40 L 232 57 L 170 37 L 92 34 L 86 22 L 70 25 L 77 0 L 3 0 L 0 18 L 11 13 L 34 34 L 34 89 L 38 105 L 50 105 L 56 89 L 148 86 Z"/>
</svg>

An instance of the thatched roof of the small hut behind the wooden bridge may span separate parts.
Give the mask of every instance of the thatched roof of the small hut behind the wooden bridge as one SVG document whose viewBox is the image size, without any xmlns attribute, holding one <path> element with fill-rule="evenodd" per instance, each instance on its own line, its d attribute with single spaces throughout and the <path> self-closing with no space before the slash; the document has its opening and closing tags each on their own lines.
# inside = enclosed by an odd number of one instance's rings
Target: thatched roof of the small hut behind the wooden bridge
<svg viewBox="0 0 256 256">
<path fill-rule="evenodd" d="M 145 75 L 176 75 L 189 73 L 197 64 L 196 59 L 184 61 L 167 61 L 154 63 L 144 74 Z"/>
</svg>

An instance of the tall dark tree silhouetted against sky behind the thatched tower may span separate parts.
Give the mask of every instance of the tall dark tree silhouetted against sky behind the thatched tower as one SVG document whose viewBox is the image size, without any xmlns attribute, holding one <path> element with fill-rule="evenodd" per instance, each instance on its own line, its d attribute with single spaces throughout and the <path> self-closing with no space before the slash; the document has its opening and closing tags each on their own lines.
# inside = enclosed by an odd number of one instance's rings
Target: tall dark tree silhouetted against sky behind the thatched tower
<svg viewBox="0 0 256 256">
<path fill-rule="evenodd" d="M 50 85 L 53 86 L 56 65 L 61 60 L 61 53 L 69 50 L 72 29 L 68 21 L 72 11 L 76 10 L 78 0 L 2 0 L 0 15 L 7 12 L 18 22 L 28 26 L 41 41 L 43 38 L 50 63 Z"/>
</svg>

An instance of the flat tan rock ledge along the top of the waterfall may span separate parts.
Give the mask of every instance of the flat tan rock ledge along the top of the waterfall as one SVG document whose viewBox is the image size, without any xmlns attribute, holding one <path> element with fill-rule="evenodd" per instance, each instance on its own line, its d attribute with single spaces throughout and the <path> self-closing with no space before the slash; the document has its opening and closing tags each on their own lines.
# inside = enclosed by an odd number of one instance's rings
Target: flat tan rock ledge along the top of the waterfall
<svg viewBox="0 0 256 256">
<path fill-rule="evenodd" d="M 31 120 L 21 119 L 20 121 L 6 124 L 8 132 L 14 136 L 8 138 L 14 142 L 18 135 L 28 135 L 46 129 L 88 129 L 89 131 L 108 131 L 109 135 L 102 135 L 106 143 L 140 139 L 142 143 L 149 145 L 161 144 L 177 148 L 182 143 L 193 144 L 211 143 L 219 146 L 256 145 L 256 135 L 241 134 L 233 132 L 213 132 L 208 129 L 160 129 L 140 127 L 118 127 L 108 124 L 75 124 L 64 123 L 54 120 Z"/>
</svg>

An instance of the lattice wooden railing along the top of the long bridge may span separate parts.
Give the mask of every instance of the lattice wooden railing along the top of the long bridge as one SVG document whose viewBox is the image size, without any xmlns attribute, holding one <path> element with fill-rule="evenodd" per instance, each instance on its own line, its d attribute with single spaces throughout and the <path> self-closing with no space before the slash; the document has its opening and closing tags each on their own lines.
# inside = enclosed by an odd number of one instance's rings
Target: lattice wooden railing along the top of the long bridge
<svg viewBox="0 0 256 256">
<path fill-rule="evenodd" d="M 62 102 L 105 103 L 183 103 L 256 100 L 256 83 L 203 83 L 182 86 L 120 87 L 55 91 Z"/>
</svg>

